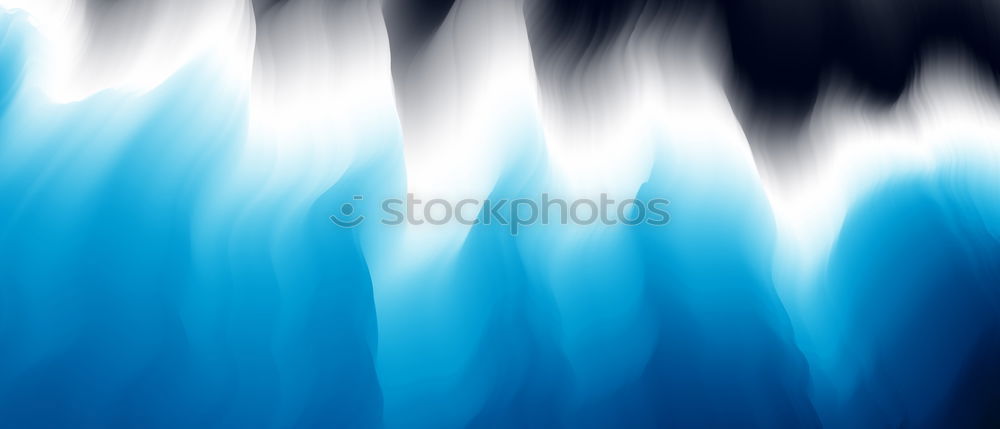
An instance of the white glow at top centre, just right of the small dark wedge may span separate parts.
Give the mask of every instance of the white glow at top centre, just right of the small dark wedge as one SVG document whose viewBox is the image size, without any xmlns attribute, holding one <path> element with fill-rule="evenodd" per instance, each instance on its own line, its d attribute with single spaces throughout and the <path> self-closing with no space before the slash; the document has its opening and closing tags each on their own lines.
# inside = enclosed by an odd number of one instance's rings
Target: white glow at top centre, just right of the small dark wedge
<svg viewBox="0 0 1000 429">
<path fill-rule="evenodd" d="M 408 191 L 417 199 L 483 200 L 537 144 L 537 81 L 519 1 L 465 0 L 407 71 L 399 99 Z M 528 173 L 528 171 L 525 171 Z M 408 226 L 408 263 L 440 260 L 468 227 Z"/>
</svg>

